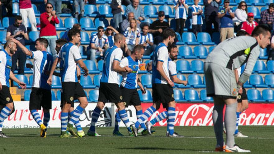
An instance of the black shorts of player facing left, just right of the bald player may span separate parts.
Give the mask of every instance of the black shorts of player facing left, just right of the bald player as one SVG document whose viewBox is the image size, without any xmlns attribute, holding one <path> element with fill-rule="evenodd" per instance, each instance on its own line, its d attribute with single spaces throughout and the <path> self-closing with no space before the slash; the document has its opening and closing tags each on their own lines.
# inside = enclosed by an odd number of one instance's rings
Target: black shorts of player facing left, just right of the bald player
<svg viewBox="0 0 274 154">
<path fill-rule="evenodd" d="M 120 86 L 123 102 L 125 102 L 125 107 L 129 105 L 138 106 L 141 105 L 141 100 L 138 94 L 137 89 L 128 89 L 123 86 Z"/>
</svg>

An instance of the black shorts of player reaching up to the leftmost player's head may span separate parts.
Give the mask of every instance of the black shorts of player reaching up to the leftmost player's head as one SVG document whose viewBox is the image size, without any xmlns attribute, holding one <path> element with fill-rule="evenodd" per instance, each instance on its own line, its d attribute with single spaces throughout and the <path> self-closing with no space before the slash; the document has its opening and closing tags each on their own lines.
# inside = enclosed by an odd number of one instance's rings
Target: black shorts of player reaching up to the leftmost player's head
<svg viewBox="0 0 274 154">
<path fill-rule="evenodd" d="M 31 88 L 30 110 L 51 109 L 51 91 L 42 88 Z"/>
</svg>

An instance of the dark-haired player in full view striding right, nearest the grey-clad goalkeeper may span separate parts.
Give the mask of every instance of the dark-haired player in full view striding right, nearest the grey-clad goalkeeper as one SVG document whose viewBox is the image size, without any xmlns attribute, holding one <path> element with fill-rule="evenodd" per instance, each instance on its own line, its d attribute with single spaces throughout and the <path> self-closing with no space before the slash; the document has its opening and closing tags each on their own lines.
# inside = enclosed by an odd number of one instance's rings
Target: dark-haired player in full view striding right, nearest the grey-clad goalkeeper
<svg viewBox="0 0 274 154">
<path fill-rule="evenodd" d="M 160 108 L 160 103 L 164 107 L 168 107 L 168 127 L 170 137 L 181 137 L 174 133 L 175 122 L 175 100 L 173 95 L 174 83 L 171 81 L 168 72 L 168 48 L 175 39 L 174 30 L 168 28 L 163 31 L 163 42 L 159 43 L 154 50 L 153 66 L 152 66 L 152 98 L 153 105 L 149 107 L 144 114 L 132 124 L 130 128 L 133 130 L 134 136 L 138 135 L 138 127 L 146 119 L 148 119 L 156 110 Z"/>
</svg>

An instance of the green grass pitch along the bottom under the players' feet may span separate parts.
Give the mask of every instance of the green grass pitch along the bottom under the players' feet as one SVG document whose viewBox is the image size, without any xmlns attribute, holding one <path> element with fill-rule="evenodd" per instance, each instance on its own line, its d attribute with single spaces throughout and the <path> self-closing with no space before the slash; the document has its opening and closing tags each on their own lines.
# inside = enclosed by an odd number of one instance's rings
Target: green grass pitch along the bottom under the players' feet
<svg viewBox="0 0 274 154">
<path fill-rule="evenodd" d="M 88 128 L 84 128 L 87 133 Z M 0 138 L 0 154 L 5 153 L 213 153 L 216 139 L 213 127 L 175 127 L 185 138 L 165 137 L 166 127 L 155 127 L 152 136 L 129 137 L 126 128 L 120 128 L 124 137 L 112 136 L 113 128 L 96 128 L 102 137 L 59 138 L 60 128 L 49 128 L 46 138 L 40 138 L 39 128 L 3 129 L 10 138 Z M 273 153 L 273 126 L 239 126 L 249 138 L 236 138 L 236 144 L 252 153 Z"/>
</svg>

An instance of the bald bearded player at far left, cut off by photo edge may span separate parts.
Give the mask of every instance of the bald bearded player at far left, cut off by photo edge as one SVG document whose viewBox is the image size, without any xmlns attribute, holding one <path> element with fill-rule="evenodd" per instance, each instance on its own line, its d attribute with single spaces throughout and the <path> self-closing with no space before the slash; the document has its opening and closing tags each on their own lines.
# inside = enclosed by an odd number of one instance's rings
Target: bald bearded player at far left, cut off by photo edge
<svg viewBox="0 0 274 154">
<path fill-rule="evenodd" d="M 4 106 L 0 112 L 0 125 L 14 110 L 14 104 L 12 96 L 9 90 L 11 78 L 14 82 L 17 82 L 22 89 L 26 89 L 26 84 L 19 81 L 11 71 L 12 67 L 12 55 L 17 51 L 16 43 L 17 40 L 10 39 L 4 45 L 4 50 L 0 50 L 0 105 Z M 1 138 L 7 138 L 7 136 L 2 132 L 2 126 L 0 131 Z"/>
</svg>

